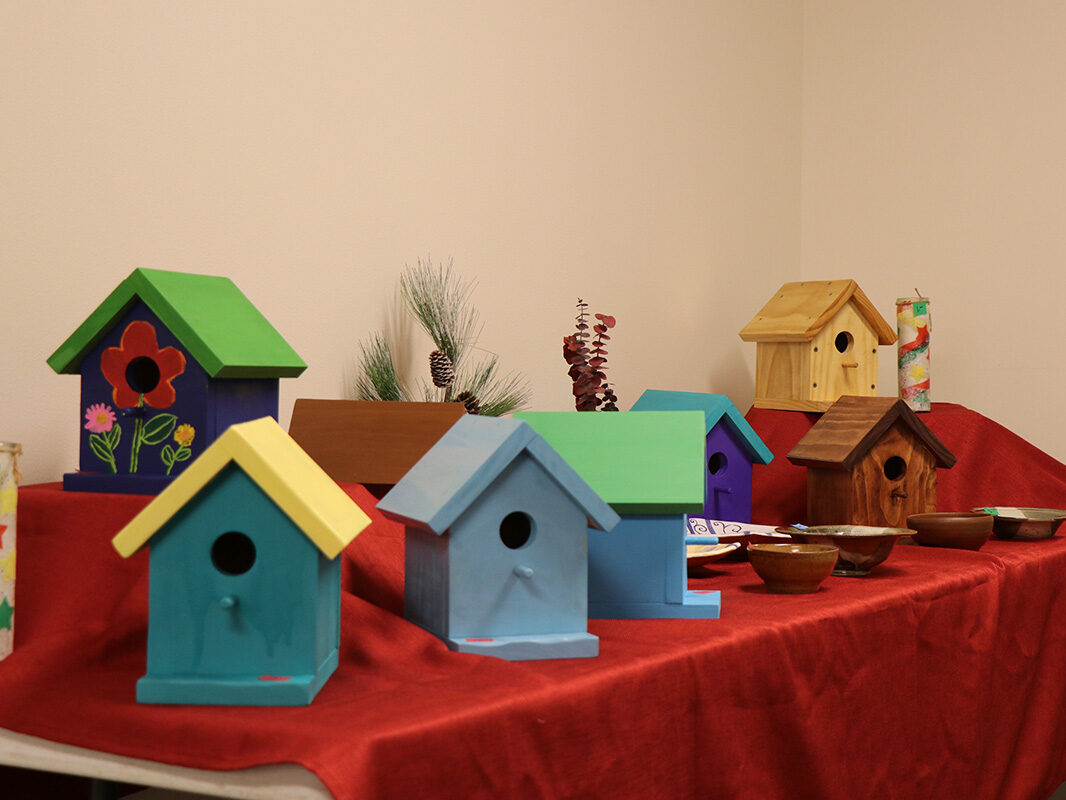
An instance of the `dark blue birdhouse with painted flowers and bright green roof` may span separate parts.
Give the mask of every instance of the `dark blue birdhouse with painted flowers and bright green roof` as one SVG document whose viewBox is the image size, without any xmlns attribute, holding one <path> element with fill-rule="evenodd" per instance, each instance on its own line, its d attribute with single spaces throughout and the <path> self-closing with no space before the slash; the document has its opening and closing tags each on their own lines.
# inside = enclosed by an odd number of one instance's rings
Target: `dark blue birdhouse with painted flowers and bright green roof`
<svg viewBox="0 0 1066 800">
<path fill-rule="evenodd" d="M 277 417 L 307 365 L 232 281 L 134 270 L 48 358 L 81 375 L 66 490 L 156 494 L 236 422 Z"/>
</svg>

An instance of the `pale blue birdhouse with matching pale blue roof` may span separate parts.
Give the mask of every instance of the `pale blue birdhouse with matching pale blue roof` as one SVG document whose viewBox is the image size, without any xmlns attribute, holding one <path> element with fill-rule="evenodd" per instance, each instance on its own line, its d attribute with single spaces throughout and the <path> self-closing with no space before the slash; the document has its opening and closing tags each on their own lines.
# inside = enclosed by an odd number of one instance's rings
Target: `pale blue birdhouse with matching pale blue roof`
<svg viewBox="0 0 1066 800">
<path fill-rule="evenodd" d="M 462 417 L 377 508 L 406 527 L 404 617 L 451 650 L 598 655 L 587 531 L 618 516 L 530 426 Z"/>
</svg>

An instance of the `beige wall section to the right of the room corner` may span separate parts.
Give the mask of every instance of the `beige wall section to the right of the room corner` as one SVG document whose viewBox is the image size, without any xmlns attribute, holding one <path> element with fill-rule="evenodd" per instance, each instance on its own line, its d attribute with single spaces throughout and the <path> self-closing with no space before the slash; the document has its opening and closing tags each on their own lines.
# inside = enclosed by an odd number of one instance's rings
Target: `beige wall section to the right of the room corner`
<svg viewBox="0 0 1066 800">
<path fill-rule="evenodd" d="M 855 277 L 886 316 L 918 287 L 934 400 L 1066 460 L 1066 4 L 808 0 L 804 15 L 802 274 Z"/>
</svg>

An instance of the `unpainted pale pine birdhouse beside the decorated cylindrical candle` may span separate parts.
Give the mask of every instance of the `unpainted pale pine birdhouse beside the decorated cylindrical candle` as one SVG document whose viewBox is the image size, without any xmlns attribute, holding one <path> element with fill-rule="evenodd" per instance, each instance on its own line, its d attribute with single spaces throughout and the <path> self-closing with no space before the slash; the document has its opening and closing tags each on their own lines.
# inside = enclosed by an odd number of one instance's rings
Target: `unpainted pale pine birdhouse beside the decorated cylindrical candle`
<svg viewBox="0 0 1066 800">
<path fill-rule="evenodd" d="M 825 411 L 877 395 L 877 347 L 895 331 L 854 281 L 785 284 L 740 332 L 756 342 L 755 406 Z"/>
</svg>

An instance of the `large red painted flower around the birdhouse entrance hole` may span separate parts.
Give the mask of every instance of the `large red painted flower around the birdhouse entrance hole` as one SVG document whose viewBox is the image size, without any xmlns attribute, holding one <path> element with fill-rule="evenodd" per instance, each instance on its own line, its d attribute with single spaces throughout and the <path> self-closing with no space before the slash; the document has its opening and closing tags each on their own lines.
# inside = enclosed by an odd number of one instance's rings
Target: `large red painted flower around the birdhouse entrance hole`
<svg viewBox="0 0 1066 800">
<path fill-rule="evenodd" d="M 100 369 L 118 407 L 132 409 L 143 401 L 152 409 L 168 409 L 176 399 L 171 382 L 185 371 L 185 356 L 177 348 L 160 349 L 151 323 L 136 320 L 123 332 L 118 347 L 103 351 Z"/>
</svg>

